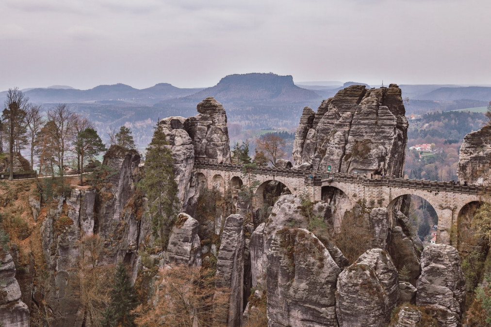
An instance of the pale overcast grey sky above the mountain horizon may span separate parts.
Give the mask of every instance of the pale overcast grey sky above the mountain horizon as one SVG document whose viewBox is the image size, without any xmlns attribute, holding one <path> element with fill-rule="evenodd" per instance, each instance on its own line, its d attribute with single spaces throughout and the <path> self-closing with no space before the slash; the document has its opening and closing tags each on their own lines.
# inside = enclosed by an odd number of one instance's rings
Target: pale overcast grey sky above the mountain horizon
<svg viewBox="0 0 491 327">
<path fill-rule="evenodd" d="M 1 0 L 0 90 L 491 84 L 490 0 Z"/>
</svg>

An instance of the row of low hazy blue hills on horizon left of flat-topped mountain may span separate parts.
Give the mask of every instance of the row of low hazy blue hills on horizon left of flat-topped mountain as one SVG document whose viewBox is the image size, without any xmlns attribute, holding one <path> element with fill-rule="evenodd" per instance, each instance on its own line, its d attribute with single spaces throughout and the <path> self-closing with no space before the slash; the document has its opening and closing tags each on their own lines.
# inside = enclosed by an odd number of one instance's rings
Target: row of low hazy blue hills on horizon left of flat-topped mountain
<svg viewBox="0 0 491 327">
<path fill-rule="evenodd" d="M 99 85 L 89 90 L 69 87 L 28 89 L 24 93 L 34 103 L 77 103 L 93 101 L 123 101 L 135 104 L 154 104 L 165 99 L 188 96 L 202 89 L 180 89 L 168 83 L 138 90 L 125 84 Z M 5 92 L 0 93 L 0 98 Z"/>
</svg>

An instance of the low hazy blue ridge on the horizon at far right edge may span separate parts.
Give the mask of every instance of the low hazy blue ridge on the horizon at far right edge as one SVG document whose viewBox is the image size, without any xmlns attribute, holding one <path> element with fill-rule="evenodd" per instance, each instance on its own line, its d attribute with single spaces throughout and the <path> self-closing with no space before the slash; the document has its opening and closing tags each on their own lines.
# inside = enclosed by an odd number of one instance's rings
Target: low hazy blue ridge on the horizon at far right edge
<svg viewBox="0 0 491 327">
<path fill-rule="evenodd" d="M 451 101 L 459 99 L 467 100 L 491 100 L 491 87 L 441 87 L 429 93 L 416 97 L 419 100 Z"/>
</svg>

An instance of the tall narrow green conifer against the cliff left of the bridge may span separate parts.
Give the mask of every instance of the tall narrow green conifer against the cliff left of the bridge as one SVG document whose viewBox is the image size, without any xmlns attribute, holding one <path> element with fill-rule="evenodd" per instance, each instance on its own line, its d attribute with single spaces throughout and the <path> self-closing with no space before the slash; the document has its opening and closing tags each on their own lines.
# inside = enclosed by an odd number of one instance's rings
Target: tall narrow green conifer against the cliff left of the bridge
<svg viewBox="0 0 491 327">
<path fill-rule="evenodd" d="M 170 226 L 177 214 L 179 204 L 177 183 L 174 179 L 174 158 L 165 140 L 161 125 L 155 127 L 145 159 L 145 173 L 141 188 L 148 201 L 152 218 L 152 231 L 165 248 Z"/>
</svg>

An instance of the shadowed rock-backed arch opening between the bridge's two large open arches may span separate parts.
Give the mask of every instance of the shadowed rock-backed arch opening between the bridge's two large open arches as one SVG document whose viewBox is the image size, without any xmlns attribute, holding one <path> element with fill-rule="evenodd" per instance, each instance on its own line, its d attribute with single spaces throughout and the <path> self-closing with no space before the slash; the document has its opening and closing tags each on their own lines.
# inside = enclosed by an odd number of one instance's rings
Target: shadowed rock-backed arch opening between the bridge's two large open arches
<svg viewBox="0 0 491 327">
<path fill-rule="evenodd" d="M 332 185 L 324 185 L 321 188 L 321 200 L 329 203 L 332 227 L 335 233 L 341 232 L 341 224 L 346 212 L 353 211 L 353 203 L 340 188 Z"/>
</svg>

